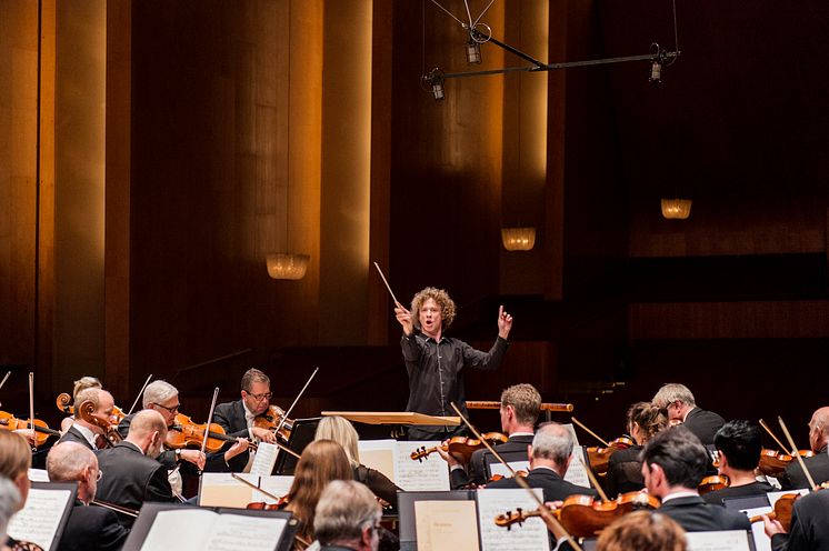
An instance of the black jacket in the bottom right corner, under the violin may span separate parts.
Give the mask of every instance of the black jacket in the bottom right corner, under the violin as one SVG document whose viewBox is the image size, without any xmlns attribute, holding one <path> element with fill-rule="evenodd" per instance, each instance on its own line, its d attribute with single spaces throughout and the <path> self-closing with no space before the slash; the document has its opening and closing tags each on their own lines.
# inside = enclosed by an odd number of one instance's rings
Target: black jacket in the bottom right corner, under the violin
<svg viewBox="0 0 829 551">
<path fill-rule="evenodd" d="M 803 495 L 791 510 L 788 534 L 771 538 L 773 551 L 829 551 L 829 490 Z"/>
</svg>

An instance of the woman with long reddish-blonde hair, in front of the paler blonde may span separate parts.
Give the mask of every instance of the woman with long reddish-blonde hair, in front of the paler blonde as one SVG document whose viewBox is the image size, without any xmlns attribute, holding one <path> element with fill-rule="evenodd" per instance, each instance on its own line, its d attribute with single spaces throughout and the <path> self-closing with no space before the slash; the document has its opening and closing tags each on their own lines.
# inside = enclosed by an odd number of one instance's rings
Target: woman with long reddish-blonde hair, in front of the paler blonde
<svg viewBox="0 0 829 551">
<path fill-rule="evenodd" d="M 342 447 L 331 440 L 316 440 L 308 444 L 293 471 L 293 483 L 284 507 L 299 519 L 300 537 L 294 549 L 304 549 L 300 540 L 313 540 L 313 514 L 322 490 L 332 480 L 353 480 L 351 463 Z"/>
</svg>

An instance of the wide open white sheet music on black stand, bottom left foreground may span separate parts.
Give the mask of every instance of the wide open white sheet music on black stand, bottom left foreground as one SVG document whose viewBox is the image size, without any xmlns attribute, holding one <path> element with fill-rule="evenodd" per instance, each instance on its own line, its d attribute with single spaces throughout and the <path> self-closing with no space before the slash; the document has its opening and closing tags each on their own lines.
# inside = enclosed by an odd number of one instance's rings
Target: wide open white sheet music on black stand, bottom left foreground
<svg viewBox="0 0 829 551">
<path fill-rule="evenodd" d="M 160 511 L 141 551 L 273 551 L 284 527 L 284 519 L 206 509 Z"/>
</svg>

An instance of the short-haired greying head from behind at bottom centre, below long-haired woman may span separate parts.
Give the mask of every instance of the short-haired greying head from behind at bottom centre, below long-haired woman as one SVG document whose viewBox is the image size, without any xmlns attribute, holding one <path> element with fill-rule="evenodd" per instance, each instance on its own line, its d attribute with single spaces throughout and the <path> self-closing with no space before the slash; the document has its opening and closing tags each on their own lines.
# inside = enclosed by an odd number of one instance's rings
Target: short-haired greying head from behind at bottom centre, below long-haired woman
<svg viewBox="0 0 829 551">
<path fill-rule="evenodd" d="M 320 495 L 313 532 L 321 551 L 377 551 L 380 505 L 371 492 L 352 480 L 333 480 Z"/>
</svg>

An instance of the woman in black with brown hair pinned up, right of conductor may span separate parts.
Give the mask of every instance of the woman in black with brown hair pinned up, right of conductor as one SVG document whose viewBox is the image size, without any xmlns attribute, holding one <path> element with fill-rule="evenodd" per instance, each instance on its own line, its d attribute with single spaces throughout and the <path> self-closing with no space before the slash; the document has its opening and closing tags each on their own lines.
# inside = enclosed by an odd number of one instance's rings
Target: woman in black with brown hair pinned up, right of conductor
<svg viewBox="0 0 829 551">
<path fill-rule="evenodd" d="M 638 402 L 631 405 L 627 419 L 628 433 L 636 445 L 617 451 L 608 460 L 605 489 L 611 499 L 620 493 L 635 492 L 645 488 L 640 457 L 642 449 L 648 440 L 668 427 L 668 419 L 662 410 L 651 402 Z"/>
</svg>

